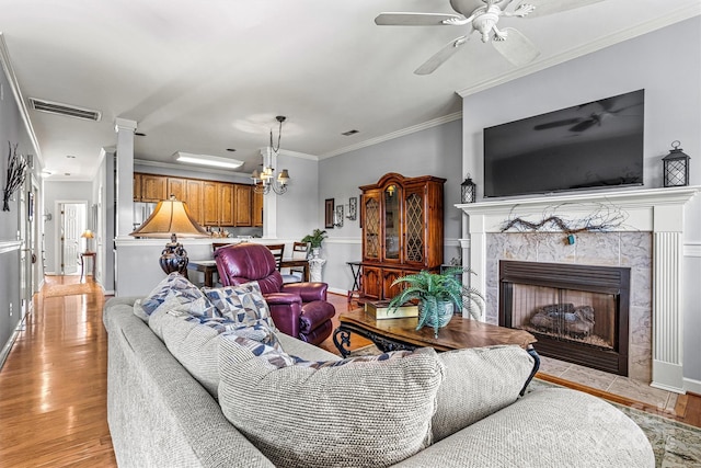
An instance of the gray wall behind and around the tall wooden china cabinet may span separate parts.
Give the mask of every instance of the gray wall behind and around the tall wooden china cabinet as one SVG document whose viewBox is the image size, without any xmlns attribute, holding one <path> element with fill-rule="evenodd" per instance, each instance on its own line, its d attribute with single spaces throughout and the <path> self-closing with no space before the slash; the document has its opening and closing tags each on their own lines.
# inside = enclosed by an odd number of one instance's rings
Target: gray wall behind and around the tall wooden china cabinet
<svg viewBox="0 0 701 468">
<path fill-rule="evenodd" d="M 461 125 L 460 121 L 453 121 L 324 159 L 319 164 L 318 226 L 324 226 L 324 199 L 334 198 L 336 205 L 347 205 L 349 197 L 360 195 L 360 185 L 376 183 L 388 172 L 444 178 L 447 179 L 444 186 L 444 261 L 448 262 L 459 254 L 461 213 L 452 205 L 460 201 L 460 184 L 464 179 L 461 155 Z M 349 289 L 353 276 L 345 262 L 360 260 L 363 254 L 358 220 L 345 219 L 342 228 L 327 231 L 329 239 L 322 252 L 326 258 L 323 279 L 334 290 Z"/>
</svg>

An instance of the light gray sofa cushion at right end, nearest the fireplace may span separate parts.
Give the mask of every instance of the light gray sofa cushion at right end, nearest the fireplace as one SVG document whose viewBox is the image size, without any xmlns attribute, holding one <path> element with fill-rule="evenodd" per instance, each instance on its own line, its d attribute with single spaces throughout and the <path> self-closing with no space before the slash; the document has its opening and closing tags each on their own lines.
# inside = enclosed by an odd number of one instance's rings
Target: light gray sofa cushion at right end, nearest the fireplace
<svg viewBox="0 0 701 468">
<path fill-rule="evenodd" d="M 533 369 L 519 346 L 491 346 L 440 353 L 446 378 L 433 416 L 434 442 L 514 403 Z"/>
</svg>

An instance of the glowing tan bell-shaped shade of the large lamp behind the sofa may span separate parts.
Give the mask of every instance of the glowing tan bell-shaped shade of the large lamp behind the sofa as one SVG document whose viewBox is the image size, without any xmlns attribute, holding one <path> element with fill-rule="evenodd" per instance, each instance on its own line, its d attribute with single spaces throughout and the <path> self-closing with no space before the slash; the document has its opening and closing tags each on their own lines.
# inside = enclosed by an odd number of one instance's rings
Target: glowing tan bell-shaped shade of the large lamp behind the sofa
<svg viewBox="0 0 701 468">
<path fill-rule="evenodd" d="M 193 238 L 209 237 L 209 232 L 189 215 L 187 205 L 173 195 L 169 199 L 159 202 L 151 216 L 129 236 L 168 239 L 172 235 Z"/>
</svg>

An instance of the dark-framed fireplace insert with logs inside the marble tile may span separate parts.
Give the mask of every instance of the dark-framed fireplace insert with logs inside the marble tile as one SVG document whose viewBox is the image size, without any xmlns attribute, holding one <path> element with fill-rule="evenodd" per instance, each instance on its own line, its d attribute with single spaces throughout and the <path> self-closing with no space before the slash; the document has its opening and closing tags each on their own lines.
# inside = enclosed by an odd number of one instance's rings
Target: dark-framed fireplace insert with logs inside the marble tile
<svg viewBox="0 0 701 468">
<path fill-rule="evenodd" d="M 628 376 L 628 267 L 499 261 L 499 326 L 529 331 L 536 350 Z"/>
</svg>

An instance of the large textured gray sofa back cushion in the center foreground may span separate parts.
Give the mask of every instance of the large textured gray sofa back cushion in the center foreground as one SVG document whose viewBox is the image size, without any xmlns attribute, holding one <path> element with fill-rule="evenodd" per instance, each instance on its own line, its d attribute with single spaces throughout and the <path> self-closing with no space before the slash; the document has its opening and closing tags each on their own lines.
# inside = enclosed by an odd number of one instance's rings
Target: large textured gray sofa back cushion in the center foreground
<svg viewBox="0 0 701 468">
<path fill-rule="evenodd" d="M 222 411 L 276 466 L 382 467 L 430 443 L 434 350 L 313 368 L 271 364 L 240 336 L 219 344 Z"/>
</svg>

